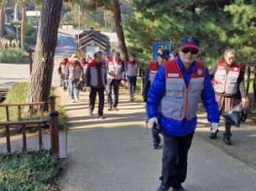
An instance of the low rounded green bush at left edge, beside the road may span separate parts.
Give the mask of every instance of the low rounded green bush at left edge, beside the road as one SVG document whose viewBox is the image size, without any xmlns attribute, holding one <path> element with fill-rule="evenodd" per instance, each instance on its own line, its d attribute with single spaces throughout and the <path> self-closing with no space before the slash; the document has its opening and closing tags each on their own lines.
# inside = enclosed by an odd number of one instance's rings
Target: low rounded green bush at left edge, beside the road
<svg viewBox="0 0 256 191">
<path fill-rule="evenodd" d="M 0 62 L 3 63 L 27 63 L 28 58 L 19 48 L 0 49 Z"/>
</svg>

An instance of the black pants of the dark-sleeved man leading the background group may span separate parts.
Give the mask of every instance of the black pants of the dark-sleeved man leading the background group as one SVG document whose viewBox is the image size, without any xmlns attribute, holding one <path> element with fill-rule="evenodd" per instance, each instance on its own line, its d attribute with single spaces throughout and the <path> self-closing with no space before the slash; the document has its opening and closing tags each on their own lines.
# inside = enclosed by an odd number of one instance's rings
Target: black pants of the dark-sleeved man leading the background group
<svg viewBox="0 0 256 191">
<path fill-rule="evenodd" d="M 89 109 L 91 111 L 94 110 L 95 99 L 96 99 L 96 94 L 97 93 L 98 93 L 98 111 L 97 111 L 97 113 L 99 115 L 103 115 L 103 109 L 104 109 L 104 88 L 93 88 L 93 87 L 91 87 Z"/>
</svg>

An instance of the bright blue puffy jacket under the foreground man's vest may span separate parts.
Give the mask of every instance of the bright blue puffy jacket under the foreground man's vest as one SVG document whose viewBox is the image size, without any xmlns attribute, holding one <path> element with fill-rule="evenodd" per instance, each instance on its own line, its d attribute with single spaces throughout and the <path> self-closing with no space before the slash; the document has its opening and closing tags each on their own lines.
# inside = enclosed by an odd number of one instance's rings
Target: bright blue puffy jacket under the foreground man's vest
<svg viewBox="0 0 256 191">
<path fill-rule="evenodd" d="M 182 73 L 183 79 L 186 84 L 189 84 L 191 80 L 193 71 L 196 68 L 196 63 L 193 63 L 190 70 L 185 72 L 183 64 L 179 57 L 176 58 L 178 67 Z M 158 117 L 159 125 L 164 134 L 170 136 L 186 136 L 195 131 L 197 127 L 197 116 L 188 120 L 175 120 L 168 117 L 165 117 L 161 114 L 159 109 L 161 105 L 161 100 L 165 96 L 165 67 L 161 66 L 158 70 L 158 73 L 155 77 L 155 80 L 152 82 L 147 100 L 147 115 L 148 118 Z M 207 119 L 210 122 L 219 122 L 220 114 L 218 111 L 218 104 L 215 100 L 215 94 L 213 87 L 211 85 L 209 72 L 206 69 L 205 79 L 203 82 L 203 89 L 201 92 L 202 104 L 207 112 Z"/>
</svg>

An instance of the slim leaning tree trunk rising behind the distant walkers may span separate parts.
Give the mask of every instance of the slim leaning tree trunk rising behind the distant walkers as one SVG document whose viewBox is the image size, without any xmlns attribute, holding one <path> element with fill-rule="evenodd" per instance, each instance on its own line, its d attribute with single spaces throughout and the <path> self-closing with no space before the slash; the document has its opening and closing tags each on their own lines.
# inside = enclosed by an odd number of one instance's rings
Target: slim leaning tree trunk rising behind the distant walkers
<svg viewBox="0 0 256 191">
<path fill-rule="evenodd" d="M 120 11 L 119 0 L 111 0 L 111 1 L 112 1 L 112 11 L 115 18 L 116 31 L 118 36 L 118 44 L 119 44 L 119 47 L 121 48 L 122 54 L 125 57 L 125 60 L 128 61 L 128 48 L 126 45 L 124 30 L 121 24 L 122 16 Z"/>
</svg>

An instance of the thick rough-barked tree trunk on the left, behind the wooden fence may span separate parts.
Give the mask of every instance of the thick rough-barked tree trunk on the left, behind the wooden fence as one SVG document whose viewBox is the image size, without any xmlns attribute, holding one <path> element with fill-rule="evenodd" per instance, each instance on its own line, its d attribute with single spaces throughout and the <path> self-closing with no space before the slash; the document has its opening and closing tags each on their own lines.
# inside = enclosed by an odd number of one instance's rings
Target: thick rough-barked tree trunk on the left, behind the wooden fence
<svg viewBox="0 0 256 191">
<path fill-rule="evenodd" d="M 44 0 L 30 80 L 29 102 L 45 102 L 50 96 L 57 29 L 62 0 Z"/>
</svg>

